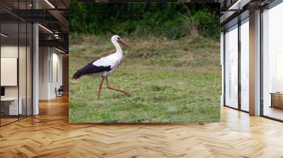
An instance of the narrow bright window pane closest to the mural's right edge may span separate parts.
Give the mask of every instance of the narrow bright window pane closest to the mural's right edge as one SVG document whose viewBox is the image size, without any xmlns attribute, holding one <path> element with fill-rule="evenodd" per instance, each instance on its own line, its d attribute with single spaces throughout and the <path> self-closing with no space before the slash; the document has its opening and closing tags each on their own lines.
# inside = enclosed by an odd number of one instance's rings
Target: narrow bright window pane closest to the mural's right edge
<svg viewBox="0 0 283 158">
<path fill-rule="evenodd" d="M 238 25 L 225 33 L 225 105 L 238 108 Z"/>
</svg>

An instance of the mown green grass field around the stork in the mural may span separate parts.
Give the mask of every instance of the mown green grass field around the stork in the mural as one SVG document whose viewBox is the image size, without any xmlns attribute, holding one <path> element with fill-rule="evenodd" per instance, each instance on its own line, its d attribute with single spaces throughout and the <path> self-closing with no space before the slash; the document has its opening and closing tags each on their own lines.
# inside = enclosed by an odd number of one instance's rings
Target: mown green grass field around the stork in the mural
<svg viewBox="0 0 283 158">
<path fill-rule="evenodd" d="M 114 49 L 111 36 L 70 37 L 69 122 L 172 123 L 219 121 L 221 95 L 220 42 L 206 37 L 124 37 L 121 66 L 108 78 L 112 87 L 97 99 L 100 78 L 71 76 L 86 63 Z"/>
</svg>

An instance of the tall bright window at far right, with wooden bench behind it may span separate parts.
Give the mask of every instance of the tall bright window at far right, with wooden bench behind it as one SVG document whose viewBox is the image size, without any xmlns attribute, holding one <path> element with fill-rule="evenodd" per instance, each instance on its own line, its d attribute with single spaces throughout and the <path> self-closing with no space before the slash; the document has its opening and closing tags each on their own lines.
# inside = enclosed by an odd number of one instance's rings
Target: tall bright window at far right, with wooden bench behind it
<svg viewBox="0 0 283 158">
<path fill-rule="evenodd" d="M 262 13 L 262 114 L 283 120 L 283 3 Z"/>
</svg>

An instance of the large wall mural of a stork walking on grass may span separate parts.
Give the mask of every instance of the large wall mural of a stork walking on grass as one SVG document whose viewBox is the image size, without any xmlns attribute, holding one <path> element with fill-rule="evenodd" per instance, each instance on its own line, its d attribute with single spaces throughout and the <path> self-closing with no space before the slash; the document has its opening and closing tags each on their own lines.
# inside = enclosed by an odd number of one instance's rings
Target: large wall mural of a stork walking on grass
<svg viewBox="0 0 283 158">
<path fill-rule="evenodd" d="M 214 122 L 219 4 L 70 5 L 69 122 Z"/>
</svg>

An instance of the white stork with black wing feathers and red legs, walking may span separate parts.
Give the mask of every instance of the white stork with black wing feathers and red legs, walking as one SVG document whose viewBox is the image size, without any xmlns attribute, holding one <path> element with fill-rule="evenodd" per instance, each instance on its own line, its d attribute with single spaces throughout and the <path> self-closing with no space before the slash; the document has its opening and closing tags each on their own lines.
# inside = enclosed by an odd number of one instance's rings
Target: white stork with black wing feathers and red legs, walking
<svg viewBox="0 0 283 158">
<path fill-rule="evenodd" d="M 75 80 L 80 78 L 82 75 L 94 75 L 94 76 L 102 77 L 102 80 L 99 86 L 99 91 L 98 91 L 98 99 L 100 97 L 103 80 L 105 78 L 106 78 L 108 89 L 117 90 L 119 92 L 124 93 L 126 96 L 131 96 L 131 93 L 129 92 L 126 92 L 124 90 L 118 90 L 116 88 L 109 86 L 108 75 L 110 75 L 110 73 L 113 73 L 116 70 L 116 68 L 118 68 L 118 66 L 120 65 L 123 59 L 123 51 L 122 51 L 122 48 L 120 47 L 120 44 L 123 44 L 129 48 L 129 45 L 117 35 L 112 36 L 111 42 L 112 44 L 114 44 L 116 48 L 116 52 L 114 54 L 110 54 L 109 56 L 104 56 L 100 59 L 91 61 L 91 63 L 88 63 L 86 66 L 79 69 L 79 71 L 76 71 L 76 73 L 73 75 L 73 79 Z"/>
</svg>

